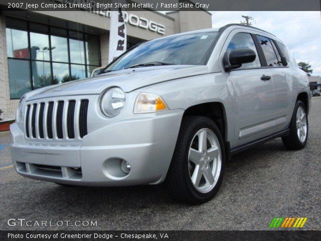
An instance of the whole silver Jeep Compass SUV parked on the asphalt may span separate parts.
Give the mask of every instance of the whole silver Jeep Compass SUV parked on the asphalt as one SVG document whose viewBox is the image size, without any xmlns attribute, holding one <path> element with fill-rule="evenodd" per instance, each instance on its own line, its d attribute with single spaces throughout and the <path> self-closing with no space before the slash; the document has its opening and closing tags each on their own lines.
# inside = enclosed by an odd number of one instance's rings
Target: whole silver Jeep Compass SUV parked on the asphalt
<svg viewBox="0 0 321 241">
<path fill-rule="evenodd" d="M 11 125 L 19 174 L 63 185 L 166 181 L 203 203 L 231 155 L 307 141 L 306 74 L 274 35 L 227 25 L 142 43 L 99 75 L 25 94 Z"/>
</svg>

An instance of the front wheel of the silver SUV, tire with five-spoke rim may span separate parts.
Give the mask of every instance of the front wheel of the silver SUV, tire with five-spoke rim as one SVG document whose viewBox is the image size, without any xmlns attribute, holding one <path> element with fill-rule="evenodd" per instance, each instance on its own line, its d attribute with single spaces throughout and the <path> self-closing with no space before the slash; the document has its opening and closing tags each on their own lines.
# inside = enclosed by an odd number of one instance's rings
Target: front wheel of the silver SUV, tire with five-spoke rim
<svg viewBox="0 0 321 241">
<path fill-rule="evenodd" d="M 204 116 L 184 117 L 166 180 L 171 196 L 189 204 L 211 200 L 224 168 L 224 142 L 217 125 Z"/>
</svg>

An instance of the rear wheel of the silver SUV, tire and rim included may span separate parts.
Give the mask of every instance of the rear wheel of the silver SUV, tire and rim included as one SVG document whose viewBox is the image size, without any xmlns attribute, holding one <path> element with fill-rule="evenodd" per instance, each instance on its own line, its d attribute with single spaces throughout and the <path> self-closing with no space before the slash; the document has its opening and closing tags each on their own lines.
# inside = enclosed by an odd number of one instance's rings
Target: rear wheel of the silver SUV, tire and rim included
<svg viewBox="0 0 321 241">
<path fill-rule="evenodd" d="M 291 122 L 290 134 L 282 137 L 282 142 L 288 150 L 301 150 L 305 147 L 308 137 L 308 121 L 306 108 L 302 101 L 295 104 Z"/>
</svg>

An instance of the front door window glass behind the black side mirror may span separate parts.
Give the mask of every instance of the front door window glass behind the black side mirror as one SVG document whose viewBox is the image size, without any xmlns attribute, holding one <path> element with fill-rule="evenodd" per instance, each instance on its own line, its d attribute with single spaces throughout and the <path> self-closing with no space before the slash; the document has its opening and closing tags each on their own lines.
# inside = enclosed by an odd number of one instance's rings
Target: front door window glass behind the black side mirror
<svg viewBox="0 0 321 241">
<path fill-rule="evenodd" d="M 235 34 L 233 36 L 233 38 L 231 39 L 229 46 L 227 47 L 227 50 L 226 50 L 227 56 L 229 56 L 229 54 L 232 50 L 239 49 L 239 48 L 252 49 L 256 54 L 256 58 L 255 58 L 254 62 L 242 64 L 242 66 L 238 69 L 249 69 L 249 68 L 261 67 L 260 59 L 257 54 L 257 50 L 256 50 L 256 47 L 255 47 L 255 44 L 254 44 L 251 34 L 248 34 L 248 33 Z"/>
</svg>

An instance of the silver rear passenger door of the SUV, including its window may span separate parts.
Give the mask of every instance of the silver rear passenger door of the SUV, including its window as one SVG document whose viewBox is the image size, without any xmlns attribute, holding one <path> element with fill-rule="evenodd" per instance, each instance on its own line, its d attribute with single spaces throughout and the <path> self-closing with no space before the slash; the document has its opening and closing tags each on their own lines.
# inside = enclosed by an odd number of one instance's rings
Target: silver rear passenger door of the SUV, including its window
<svg viewBox="0 0 321 241">
<path fill-rule="evenodd" d="M 291 119 L 290 103 L 292 96 L 292 76 L 289 63 L 284 61 L 285 55 L 280 51 L 276 41 L 265 36 L 257 35 L 260 47 L 263 50 L 266 66 L 271 72 L 271 81 L 274 88 L 274 132 L 285 129 Z M 285 47 L 285 46 L 284 46 Z M 281 58 L 281 56 L 283 58 Z"/>
</svg>

